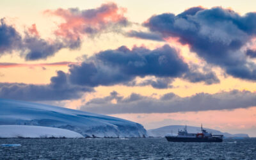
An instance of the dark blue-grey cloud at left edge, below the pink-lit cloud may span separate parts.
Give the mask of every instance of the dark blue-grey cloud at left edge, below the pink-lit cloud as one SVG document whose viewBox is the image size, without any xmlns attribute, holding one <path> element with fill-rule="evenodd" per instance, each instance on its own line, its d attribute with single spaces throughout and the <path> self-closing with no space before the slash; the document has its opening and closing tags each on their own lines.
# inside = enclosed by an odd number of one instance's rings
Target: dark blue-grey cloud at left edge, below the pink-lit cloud
<svg viewBox="0 0 256 160">
<path fill-rule="evenodd" d="M 36 29 L 36 28 L 35 28 Z M 47 59 L 63 48 L 76 49 L 80 43 L 68 40 L 53 40 L 49 42 L 40 36 L 25 31 L 24 37 L 13 27 L 1 19 L 0 26 L 0 56 L 20 52 L 26 60 Z"/>
</svg>

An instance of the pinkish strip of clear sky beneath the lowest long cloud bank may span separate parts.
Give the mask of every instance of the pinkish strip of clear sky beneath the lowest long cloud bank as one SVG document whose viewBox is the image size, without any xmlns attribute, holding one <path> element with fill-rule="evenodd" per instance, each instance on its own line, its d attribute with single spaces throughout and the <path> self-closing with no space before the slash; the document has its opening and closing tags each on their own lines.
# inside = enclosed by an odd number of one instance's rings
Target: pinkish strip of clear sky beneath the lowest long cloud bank
<svg viewBox="0 0 256 160">
<path fill-rule="evenodd" d="M 236 130 L 242 131 L 243 129 L 252 129 L 250 134 L 256 129 L 256 107 L 248 109 L 233 109 L 223 111 L 198 111 L 186 113 L 150 113 L 150 114 L 118 114 L 111 115 L 119 118 L 126 118 L 127 120 L 136 120 L 144 124 L 147 129 L 154 129 L 156 127 L 163 127 L 170 123 L 177 125 L 193 125 L 198 126 L 200 123 L 204 127 L 217 129 L 220 131 Z M 254 130 L 253 130 L 254 129 Z"/>
</svg>

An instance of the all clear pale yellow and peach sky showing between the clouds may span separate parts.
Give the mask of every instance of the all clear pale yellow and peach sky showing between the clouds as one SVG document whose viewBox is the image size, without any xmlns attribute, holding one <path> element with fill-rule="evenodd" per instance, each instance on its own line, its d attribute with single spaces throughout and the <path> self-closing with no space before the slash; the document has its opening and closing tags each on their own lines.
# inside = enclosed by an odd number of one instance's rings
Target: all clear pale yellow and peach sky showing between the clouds
<svg viewBox="0 0 256 160">
<path fill-rule="evenodd" d="M 145 29 L 140 23 L 145 22 L 154 14 L 164 12 L 180 13 L 191 6 L 204 6 L 211 8 L 212 6 L 223 6 L 232 8 L 242 15 L 247 12 L 255 12 L 256 1 L 113 1 L 118 4 L 122 10 L 120 15 L 112 12 L 109 19 L 119 20 L 124 15 L 127 19 L 134 22 L 131 26 L 125 28 L 125 31 L 131 29 Z M 179 2 L 179 3 L 178 3 Z M 8 24 L 15 25 L 19 31 L 30 28 L 31 32 L 40 35 L 46 39 L 52 39 L 53 35 L 67 36 L 66 30 L 77 28 L 80 25 L 79 19 L 73 26 L 60 24 L 64 22 L 61 17 L 53 15 L 45 15 L 45 10 L 51 10 L 51 14 L 60 15 L 60 13 L 52 12 L 63 8 L 67 10 L 70 7 L 78 7 L 80 9 L 89 9 L 99 7 L 106 1 L 3 1 L 0 6 L 0 16 L 6 17 Z M 134 3 L 138 3 L 134 5 Z M 147 5 L 143 5 L 147 3 Z M 142 7 L 143 6 L 143 7 Z M 141 8 L 142 7 L 142 8 Z M 102 18 L 103 15 L 99 15 Z M 98 17 L 98 18 L 99 18 Z M 102 19 L 104 21 L 105 19 Z M 77 23 L 78 22 L 78 23 Z M 81 22 L 83 23 L 83 22 Z M 35 24 L 35 26 L 33 26 Z M 93 21 L 93 25 L 95 22 Z M 98 24 L 96 24 L 98 25 Z M 33 26 L 33 28 L 31 28 Z M 56 29 L 62 28 L 61 32 Z M 81 28 L 80 28 L 81 29 Z M 145 29 L 147 30 L 147 29 Z M 63 32 L 62 32 L 63 31 Z M 76 34 L 74 34 L 76 35 Z M 189 51 L 189 45 L 181 45 L 175 38 L 170 38 L 166 42 L 156 42 L 152 40 L 141 40 L 138 38 L 125 37 L 120 33 L 103 33 L 102 35 L 88 38 L 84 36 L 83 44 L 80 49 L 69 50 L 61 49 L 54 56 L 47 60 L 26 61 L 19 56 L 19 52 L 13 54 L 5 54 L 0 57 L 0 83 L 26 83 L 26 84 L 49 84 L 52 76 L 56 76 L 57 70 L 68 72 L 68 65 L 81 63 L 83 56 L 88 57 L 93 54 L 104 51 L 106 49 L 116 49 L 122 45 L 126 45 L 131 49 L 133 46 L 145 46 L 148 49 L 156 49 L 164 44 L 170 44 L 179 51 L 179 56 L 186 63 L 194 63 L 199 68 L 204 68 L 207 63 L 198 58 L 195 52 Z M 10 63 L 10 64 L 6 64 Z M 12 64 L 11 64 L 12 63 Z M 95 92 L 84 93 L 81 99 L 63 100 L 63 107 L 79 109 L 79 106 L 96 97 L 106 97 L 110 92 L 115 90 L 120 95 L 127 97 L 131 93 L 140 93 L 144 96 L 155 96 L 159 98 L 164 93 L 173 92 L 180 97 L 195 95 L 196 93 L 218 93 L 230 90 L 248 90 L 256 92 L 256 84 L 254 81 L 243 80 L 228 76 L 223 68 L 212 66 L 212 70 L 220 78 L 220 83 L 206 85 L 204 83 L 190 83 L 184 79 L 176 78 L 172 85 L 173 88 L 156 89 L 152 86 L 123 86 L 116 84 L 113 86 L 97 86 Z M 140 78 L 138 78 L 140 79 Z M 201 123 L 205 127 L 227 131 L 232 133 L 247 132 L 250 136 L 256 136 L 256 108 L 234 109 L 222 111 L 198 111 L 187 113 L 141 113 L 141 114 L 118 114 L 111 115 L 119 118 L 125 118 L 143 124 L 146 129 L 162 127 L 164 125 L 196 125 Z M 255 131 L 255 132 L 254 132 Z"/>
</svg>

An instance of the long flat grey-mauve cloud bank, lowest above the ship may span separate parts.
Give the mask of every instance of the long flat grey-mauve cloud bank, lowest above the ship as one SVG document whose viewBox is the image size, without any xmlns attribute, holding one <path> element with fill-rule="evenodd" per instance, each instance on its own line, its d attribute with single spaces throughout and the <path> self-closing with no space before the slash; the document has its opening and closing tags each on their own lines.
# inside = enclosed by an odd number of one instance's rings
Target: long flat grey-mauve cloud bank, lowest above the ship
<svg viewBox="0 0 256 160">
<path fill-rule="evenodd" d="M 160 99 L 132 93 L 129 97 L 118 97 L 116 104 L 111 103 L 113 99 L 116 98 L 106 99 L 104 97 L 96 101 L 92 99 L 84 104 L 84 106 L 81 106 L 81 110 L 102 114 L 176 113 L 256 106 L 256 93 L 238 90 L 212 95 L 209 93 L 196 93 L 191 97 L 179 97 L 174 93 L 167 93 Z"/>
</svg>

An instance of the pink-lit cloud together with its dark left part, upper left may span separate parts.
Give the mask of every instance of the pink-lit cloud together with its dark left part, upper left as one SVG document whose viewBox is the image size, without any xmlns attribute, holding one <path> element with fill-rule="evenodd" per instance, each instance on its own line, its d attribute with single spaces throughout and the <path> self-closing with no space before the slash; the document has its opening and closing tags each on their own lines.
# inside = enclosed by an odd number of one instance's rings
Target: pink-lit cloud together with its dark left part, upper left
<svg viewBox="0 0 256 160">
<path fill-rule="evenodd" d="M 70 8 L 68 10 L 47 10 L 45 13 L 57 15 L 65 20 L 54 31 L 52 40 L 45 40 L 36 29 L 36 24 L 24 31 L 24 37 L 10 25 L 1 19 L 0 26 L 0 56 L 12 54 L 13 51 L 20 52 L 20 56 L 26 60 L 45 60 L 54 56 L 63 48 L 70 50 L 81 47 L 83 36 L 92 38 L 104 32 L 119 32 L 122 27 L 129 24 L 124 17 L 124 8 L 115 3 L 102 4 L 99 8 L 90 10 L 79 10 Z"/>
</svg>

